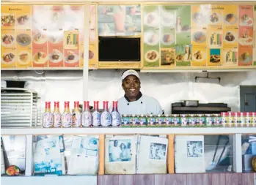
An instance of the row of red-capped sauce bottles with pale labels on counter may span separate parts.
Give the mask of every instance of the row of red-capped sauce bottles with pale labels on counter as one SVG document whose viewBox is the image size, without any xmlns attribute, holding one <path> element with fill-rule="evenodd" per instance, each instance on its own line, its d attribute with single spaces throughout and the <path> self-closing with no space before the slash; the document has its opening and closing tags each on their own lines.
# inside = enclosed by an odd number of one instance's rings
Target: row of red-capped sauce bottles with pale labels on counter
<svg viewBox="0 0 256 185">
<path fill-rule="evenodd" d="M 109 102 L 103 101 L 103 112 L 100 113 L 99 102 L 94 101 L 94 110 L 89 110 L 89 101 L 84 101 L 84 111 L 80 113 L 79 102 L 74 102 L 73 113 L 70 113 L 70 102 L 65 102 L 65 110 L 61 114 L 59 102 L 54 102 L 54 113 L 51 113 L 51 102 L 45 102 L 45 113 L 43 114 L 43 127 L 92 127 L 92 126 L 119 126 L 120 113 L 117 110 L 117 101 L 113 101 L 112 112 L 109 113 Z"/>
</svg>

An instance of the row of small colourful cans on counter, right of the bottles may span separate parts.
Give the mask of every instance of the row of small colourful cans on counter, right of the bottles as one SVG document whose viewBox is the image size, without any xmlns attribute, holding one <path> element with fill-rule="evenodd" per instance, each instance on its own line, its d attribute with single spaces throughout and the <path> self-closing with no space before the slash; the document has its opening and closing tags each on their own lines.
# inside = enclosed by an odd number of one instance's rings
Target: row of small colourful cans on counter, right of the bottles
<svg viewBox="0 0 256 185">
<path fill-rule="evenodd" d="M 122 127 L 255 127 L 256 113 L 122 115 Z"/>
</svg>

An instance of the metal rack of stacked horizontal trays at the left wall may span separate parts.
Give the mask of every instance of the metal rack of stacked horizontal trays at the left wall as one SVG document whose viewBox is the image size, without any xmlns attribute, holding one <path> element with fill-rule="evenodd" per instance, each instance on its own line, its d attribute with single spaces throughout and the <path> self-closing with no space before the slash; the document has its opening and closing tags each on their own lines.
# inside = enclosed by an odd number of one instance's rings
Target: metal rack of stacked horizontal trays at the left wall
<svg viewBox="0 0 256 185">
<path fill-rule="evenodd" d="M 1 127 L 37 126 L 37 99 L 26 88 L 1 88 Z"/>
</svg>

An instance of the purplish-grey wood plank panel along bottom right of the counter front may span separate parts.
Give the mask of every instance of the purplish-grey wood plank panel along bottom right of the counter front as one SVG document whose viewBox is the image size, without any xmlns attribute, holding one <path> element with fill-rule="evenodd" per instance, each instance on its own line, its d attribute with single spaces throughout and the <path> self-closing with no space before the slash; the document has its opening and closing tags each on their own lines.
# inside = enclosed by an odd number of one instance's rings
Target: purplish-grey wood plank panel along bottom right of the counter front
<svg viewBox="0 0 256 185">
<path fill-rule="evenodd" d="M 98 185 L 254 185 L 253 173 L 99 175 Z"/>
</svg>

